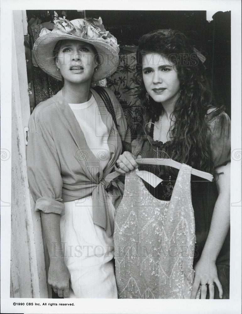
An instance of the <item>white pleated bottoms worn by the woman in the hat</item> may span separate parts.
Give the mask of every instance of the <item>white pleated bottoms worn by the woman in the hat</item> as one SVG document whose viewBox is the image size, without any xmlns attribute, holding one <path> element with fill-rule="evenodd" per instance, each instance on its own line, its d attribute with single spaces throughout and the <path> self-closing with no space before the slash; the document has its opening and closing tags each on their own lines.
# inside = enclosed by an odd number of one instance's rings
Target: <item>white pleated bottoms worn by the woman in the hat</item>
<svg viewBox="0 0 242 314">
<path fill-rule="evenodd" d="M 114 219 L 115 208 L 108 200 Z M 94 225 L 91 197 L 65 202 L 61 241 L 71 274 L 70 298 L 117 298 L 113 235 Z"/>
</svg>

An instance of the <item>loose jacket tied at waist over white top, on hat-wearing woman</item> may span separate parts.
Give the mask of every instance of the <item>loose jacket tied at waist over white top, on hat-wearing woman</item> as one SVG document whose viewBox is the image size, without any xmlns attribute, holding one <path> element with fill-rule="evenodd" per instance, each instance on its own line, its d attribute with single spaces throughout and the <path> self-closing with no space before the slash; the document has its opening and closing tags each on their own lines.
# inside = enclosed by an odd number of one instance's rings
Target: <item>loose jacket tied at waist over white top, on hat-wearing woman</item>
<svg viewBox="0 0 242 314">
<path fill-rule="evenodd" d="M 110 183 L 105 181 L 105 176 L 113 170 L 121 154 L 121 140 L 130 143 L 131 137 L 118 100 L 110 89 L 106 88 L 106 91 L 112 100 L 118 130 L 103 101 L 91 89 L 109 133 L 110 160 L 106 168 L 101 169 L 73 111 L 62 96 L 62 91 L 59 91 L 36 106 L 30 116 L 27 172 L 30 191 L 36 202 L 35 210 L 63 214 L 63 202 L 92 194 L 94 223 L 110 234 L 112 231 L 106 203 L 106 189 L 110 188 Z M 116 205 L 120 201 L 123 185 L 119 180 L 111 184 Z"/>
</svg>

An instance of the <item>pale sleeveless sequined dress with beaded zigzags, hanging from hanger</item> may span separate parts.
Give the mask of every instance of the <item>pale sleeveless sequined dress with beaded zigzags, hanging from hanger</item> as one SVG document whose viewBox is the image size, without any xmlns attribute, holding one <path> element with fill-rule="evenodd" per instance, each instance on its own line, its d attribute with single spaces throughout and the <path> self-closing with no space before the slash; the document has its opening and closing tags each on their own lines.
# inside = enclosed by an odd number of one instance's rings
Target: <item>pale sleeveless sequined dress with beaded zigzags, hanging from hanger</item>
<svg viewBox="0 0 242 314">
<path fill-rule="evenodd" d="M 126 174 L 114 245 L 119 298 L 190 298 L 195 221 L 191 167 L 180 168 L 170 201 L 155 198 L 135 170 Z"/>
</svg>

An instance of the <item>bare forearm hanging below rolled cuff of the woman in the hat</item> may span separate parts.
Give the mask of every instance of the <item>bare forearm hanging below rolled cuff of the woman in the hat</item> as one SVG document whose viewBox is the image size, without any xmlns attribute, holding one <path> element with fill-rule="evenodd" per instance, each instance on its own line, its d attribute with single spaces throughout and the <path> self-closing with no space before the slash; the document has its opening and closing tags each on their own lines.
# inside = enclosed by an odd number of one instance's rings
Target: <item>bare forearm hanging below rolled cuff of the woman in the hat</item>
<svg viewBox="0 0 242 314">
<path fill-rule="evenodd" d="M 43 237 L 50 256 L 48 284 L 59 297 L 69 296 L 70 273 L 64 262 L 61 245 L 60 215 L 41 212 Z"/>
</svg>

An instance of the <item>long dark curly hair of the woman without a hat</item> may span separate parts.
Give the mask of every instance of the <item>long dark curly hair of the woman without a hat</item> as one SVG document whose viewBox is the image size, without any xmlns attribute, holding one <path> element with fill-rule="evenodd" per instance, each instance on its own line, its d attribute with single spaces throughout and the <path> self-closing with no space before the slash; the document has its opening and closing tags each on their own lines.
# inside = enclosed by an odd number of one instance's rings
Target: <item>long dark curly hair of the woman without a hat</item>
<svg viewBox="0 0 242 314">
<path fill-rule="evenodd" d="M 210 161 L 209 127 L 206 114 L 215 107 L 212 92 L 205 76 L 205 67 L 199 61 L 192 41 L 178 30 L 155 30 L 143 35 L 139 40 L 136 53 L 137 66 L 135 82 L 138 86 L 137 96 L 146 108 L 144 123 L 150 119 L 159 120 L 162 106 L 149 97 L 143 82 L 143 56 L 159 53 L 173 62 L 180 80 L 180 96 L 175 104 L 171 118 L 175 117 L 170 129 L 169 152 L 172 158 L 203 171 L 213 171 Z"/>
</svg>

